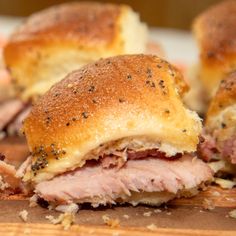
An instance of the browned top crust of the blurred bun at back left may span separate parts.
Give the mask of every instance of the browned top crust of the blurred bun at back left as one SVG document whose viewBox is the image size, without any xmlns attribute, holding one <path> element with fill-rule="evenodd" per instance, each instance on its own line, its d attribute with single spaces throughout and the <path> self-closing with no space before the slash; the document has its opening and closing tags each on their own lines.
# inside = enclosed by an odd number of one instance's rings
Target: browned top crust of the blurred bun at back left
<svg viewBox="0 0 236 236">
<path fill-rule="evenodd" d="M 79 40 L 81 45 L 112 43 L 124 5 L 95 2 L 67 3 L 31 15 L 10 37 L 10 42 Z"/>
</svg>

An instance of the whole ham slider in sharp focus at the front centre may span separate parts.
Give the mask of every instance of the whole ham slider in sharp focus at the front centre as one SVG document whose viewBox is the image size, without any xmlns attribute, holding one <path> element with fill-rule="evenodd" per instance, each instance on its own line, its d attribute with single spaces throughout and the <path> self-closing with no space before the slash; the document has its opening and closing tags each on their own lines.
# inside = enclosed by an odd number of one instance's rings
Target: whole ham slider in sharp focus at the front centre
<svg viewBox="0 0 236 236">
<path fill-rule="evenodd" d="M 210 181 L 197 159 L 201 120 L 181 101 L 181 74 L 150 55 L 101 59 L 54 85 L 24 122 L 31 156 L 18 170 L 60 205 L 189 197 Z"/>
</svg>

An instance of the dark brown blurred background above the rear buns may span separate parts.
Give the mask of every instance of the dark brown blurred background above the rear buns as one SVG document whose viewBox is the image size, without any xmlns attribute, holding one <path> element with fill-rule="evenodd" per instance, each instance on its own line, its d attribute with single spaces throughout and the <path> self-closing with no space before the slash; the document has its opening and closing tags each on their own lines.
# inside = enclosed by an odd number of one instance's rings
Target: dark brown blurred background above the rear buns
<svg viewBox="0 0 236 236">
<path fill-rule="evenodd" d="M 220 0 L 96 0 L 126 3 L 140 13 L 150 26 L 190 29 L 193 18 Z M 223 1 L 223 0 L 221 0 Z M 66 0 L 0 0 L 0 15 L 28 16 Z"/>
</svg>

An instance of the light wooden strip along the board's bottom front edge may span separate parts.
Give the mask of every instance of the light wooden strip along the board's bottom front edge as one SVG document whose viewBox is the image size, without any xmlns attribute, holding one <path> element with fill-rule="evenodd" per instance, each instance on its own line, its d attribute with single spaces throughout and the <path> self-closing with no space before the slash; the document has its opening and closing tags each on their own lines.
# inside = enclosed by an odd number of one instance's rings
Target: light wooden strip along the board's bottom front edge
<svg viewBox="0 0 236 236">
<path fill-rule="evenodd" d="M 188 229 L 156 229 L 148 231 L 145 228 L 119 228 L 111 229 L 107 227 L 78 226 L 74 225 L 68 231 L 61 230 L 60 226 L 42 224 L 0 224 L 0 235 L 4 236 L 235 236 L 235 231 L 218 230 L 188 230 Z"/>
</svg>

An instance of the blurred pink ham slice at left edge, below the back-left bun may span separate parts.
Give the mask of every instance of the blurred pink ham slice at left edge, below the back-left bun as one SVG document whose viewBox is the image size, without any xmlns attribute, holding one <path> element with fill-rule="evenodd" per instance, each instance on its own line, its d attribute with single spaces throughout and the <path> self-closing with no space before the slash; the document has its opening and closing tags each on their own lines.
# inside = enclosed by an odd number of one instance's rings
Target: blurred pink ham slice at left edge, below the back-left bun
<svg viewBox="0 0 236 236">
<path fill-rule="evenodd" d="M 0 131 L 8 125 L 15 116 L 24 108 L 24 104 L 13 99 L 0 104 Z"/>
</svg>

